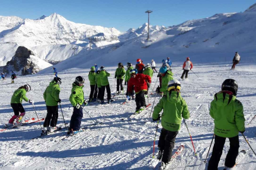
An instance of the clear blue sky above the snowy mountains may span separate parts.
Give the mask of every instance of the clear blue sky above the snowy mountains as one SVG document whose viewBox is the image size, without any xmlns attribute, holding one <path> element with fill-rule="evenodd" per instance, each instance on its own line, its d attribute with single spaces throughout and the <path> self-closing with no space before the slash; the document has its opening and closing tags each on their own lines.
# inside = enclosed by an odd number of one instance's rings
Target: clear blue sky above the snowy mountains
<svg viewBox="0 0 256 170">
<path fill-rule="evenodd" d="M 115 27 L 120 31 L 138 28 L 147 22 L 166 27 L 217 13 L 246 10 L 255 0 L 0 0 L 0 15 L 36 19 L 56 12 L 67 20 L 88 25 Z"/>
</svg>

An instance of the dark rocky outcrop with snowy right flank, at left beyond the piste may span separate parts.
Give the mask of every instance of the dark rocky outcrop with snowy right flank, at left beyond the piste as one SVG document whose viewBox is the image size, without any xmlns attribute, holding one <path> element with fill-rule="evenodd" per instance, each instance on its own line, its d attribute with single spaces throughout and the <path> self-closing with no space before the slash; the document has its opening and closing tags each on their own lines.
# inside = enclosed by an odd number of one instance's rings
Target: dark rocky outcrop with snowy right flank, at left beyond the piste
<svg viewBox="0 0 256 170">
<path fill-rule="evenodd" d="M 24 76 L 28 74 L 35 74 L 41 69 L 49 66 L 51 66 L 51 64 L 40 59 L 36 53 L 24 46 L 19 46 L 12 59 L 7 62 L 6 66 L 2 66 L 0 69 L 7 75 L 14 70 L 19 75 L 21 74 Z"/>
</svg>

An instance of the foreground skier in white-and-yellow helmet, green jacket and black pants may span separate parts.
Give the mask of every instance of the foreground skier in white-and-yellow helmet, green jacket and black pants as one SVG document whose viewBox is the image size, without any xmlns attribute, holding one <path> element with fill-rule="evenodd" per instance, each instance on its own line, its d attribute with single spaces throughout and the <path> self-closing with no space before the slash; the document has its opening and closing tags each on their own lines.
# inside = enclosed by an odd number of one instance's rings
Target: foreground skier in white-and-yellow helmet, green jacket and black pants
<svg viewBox="0 0 256 170">
<path fill-rule="evenodd" d="M 170 80 L 167 86 L 167 94 L 161 98 L 154 107 L 153 121 L 162 119 L 162 130 L 158 141 L 157 159 L 162 163 L 159 169 L 164 169 L 170 162 L 174 148 L 175 138 L 180 129 L 182 117 L 188 119 L 190 114 L 186 101 L 180 95 L 180 82 L 176 79 Z M 160 112 L 163 110 L 162 116 Z"/>
</svg>

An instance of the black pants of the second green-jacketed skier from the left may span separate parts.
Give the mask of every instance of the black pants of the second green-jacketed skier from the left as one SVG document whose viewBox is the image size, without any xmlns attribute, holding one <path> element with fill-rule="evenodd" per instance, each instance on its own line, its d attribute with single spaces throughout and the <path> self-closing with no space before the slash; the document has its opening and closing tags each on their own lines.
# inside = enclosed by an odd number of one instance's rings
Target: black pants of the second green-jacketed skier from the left
<svg viewBox="0 0 256 170">
<path fill-rule="evenodd" d="M 47 114 L 45 117 L 44 127 L 55 127 L 58 121 L 58 105 L 57 106 L 46 106 Z M 50 123 L 51 122 L 51 123 Z"/>
</svg>

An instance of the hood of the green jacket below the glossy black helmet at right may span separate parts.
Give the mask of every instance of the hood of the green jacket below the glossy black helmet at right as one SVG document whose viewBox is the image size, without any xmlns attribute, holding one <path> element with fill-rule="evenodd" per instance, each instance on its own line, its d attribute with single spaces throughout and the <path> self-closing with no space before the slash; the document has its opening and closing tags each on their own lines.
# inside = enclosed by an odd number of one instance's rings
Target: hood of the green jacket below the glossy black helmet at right
<svg viewBox="0 0 256 170">
<path fill-rule="evenodd" d="M 227 106 L 236 100 L 236 96 L 229 95 L 223 91 L 219 91 L 214 95 L 214 102 L 217 106 Z"/>
</svg>

